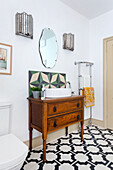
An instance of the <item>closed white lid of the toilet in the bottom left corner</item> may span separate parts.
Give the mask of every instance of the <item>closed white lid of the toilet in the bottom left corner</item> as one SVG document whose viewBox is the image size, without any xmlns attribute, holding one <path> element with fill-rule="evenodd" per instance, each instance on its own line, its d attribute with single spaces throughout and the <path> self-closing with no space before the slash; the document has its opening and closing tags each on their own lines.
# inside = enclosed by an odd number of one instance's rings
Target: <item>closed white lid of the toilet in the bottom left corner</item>
<svg viewBox="0 0 113 170">
<path fill-rule="evenodd" d="M 27 152 L 28 147 L 13 134 L 0 136 L 0 170 L 19 164 Z"/>
</svg>

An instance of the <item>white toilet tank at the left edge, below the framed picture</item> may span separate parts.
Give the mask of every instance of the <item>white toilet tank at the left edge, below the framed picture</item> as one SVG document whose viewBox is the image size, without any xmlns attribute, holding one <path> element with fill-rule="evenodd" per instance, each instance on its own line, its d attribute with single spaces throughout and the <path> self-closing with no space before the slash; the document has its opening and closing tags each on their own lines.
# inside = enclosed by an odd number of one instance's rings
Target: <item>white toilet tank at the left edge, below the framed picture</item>
<svg viewBox="0 0 113 170">
<path fill-rule="evenodd" d="M 0 102 L 0 136 L 10 132 L 10 112 L 11 104 Z"/>
</svg>

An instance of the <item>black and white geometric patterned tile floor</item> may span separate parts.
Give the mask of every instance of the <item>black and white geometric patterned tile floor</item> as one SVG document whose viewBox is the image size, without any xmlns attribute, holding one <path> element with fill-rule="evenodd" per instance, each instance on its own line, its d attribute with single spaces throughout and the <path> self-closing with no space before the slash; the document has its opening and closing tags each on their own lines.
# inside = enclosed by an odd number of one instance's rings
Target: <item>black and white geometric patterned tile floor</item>
<svg viewBox="0 0 113 170">
<path fill-rule="evenodd" d="M 47 144 L 43 164 L 42 146 L 28 153 L 21 170 L 113 170 L 113 131 L 85 127 L 81 142 L 78 131 Z"/>
</svg>

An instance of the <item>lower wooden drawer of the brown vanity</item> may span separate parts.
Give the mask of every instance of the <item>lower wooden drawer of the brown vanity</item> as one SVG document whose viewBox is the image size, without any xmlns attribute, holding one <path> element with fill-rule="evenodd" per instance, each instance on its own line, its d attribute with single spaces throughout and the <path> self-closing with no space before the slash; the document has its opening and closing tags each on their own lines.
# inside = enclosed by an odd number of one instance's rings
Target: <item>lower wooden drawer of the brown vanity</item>
<svg viewBox="0 0 113 170">
<path fill-rule="evenodd" d="M 52 131 L 59 127 L 79 121 L 81 119 L 82 119 L 82 111 L 78 111 L 78 112 L 74 112 L 74 113 L 72 112 L 72 113 L 69 113 L 66 115 L 48 118 L 47 128 L 48 128 L 48 131 Z"/>
</svg>

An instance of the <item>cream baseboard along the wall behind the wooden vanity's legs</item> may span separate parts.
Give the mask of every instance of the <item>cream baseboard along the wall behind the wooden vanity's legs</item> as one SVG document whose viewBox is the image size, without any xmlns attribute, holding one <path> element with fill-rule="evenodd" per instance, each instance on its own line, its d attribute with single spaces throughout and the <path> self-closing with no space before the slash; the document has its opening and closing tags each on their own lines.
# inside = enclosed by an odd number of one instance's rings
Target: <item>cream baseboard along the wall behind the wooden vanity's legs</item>
<svg viewBox="0 0 113 170">
<path fill-rule="evenodd" d="M 89 119 L 86 119 L 84 121 L 84 125 L 86 126 L 86 125 L 88 125 L 88 123 L 89 123 Z M 79 128 L 79 124 L 76 123 L 74 125 L 69 126 L 69 130 L 68 131 L 69 131 L 69 133 L 71 133 L 71 132 L 77 130 L 78 128 Z M 50 142 L 50 141 L 53 141 L 53 140 L 55 140 L 55 139 L 57 139 L 57 138 L 59 138 L 60 136 L 63 136 L 63 135 L 65 135 L 65 129 L 64 128 L 60 129 L 60 130 L 57 130 L 55 132 L 51 132 L 51 133 L 49 133 L 47 135 L 47 143 Z M 29 146 L 29 141 L 26 141 L 24 143 L 27 146 Z M 43 143 L 42 136 L 38 136 L 38 137 L 32 139 L 32 146 L 33 146 L 33 148 L 35 148 L 35 147 L 37 147 L 39 145 L 42 145 L 42 143 Z"/>
</svg>

